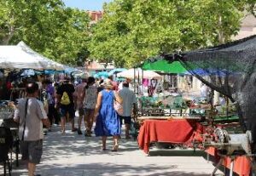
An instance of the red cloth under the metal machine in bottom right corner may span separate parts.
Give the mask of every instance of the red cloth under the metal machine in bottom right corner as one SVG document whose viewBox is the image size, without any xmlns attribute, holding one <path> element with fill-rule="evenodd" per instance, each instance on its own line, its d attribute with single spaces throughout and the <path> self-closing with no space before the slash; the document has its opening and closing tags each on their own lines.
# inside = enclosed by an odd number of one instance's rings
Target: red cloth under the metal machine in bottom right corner
<svg viewBox="0 0 256 176">
<path fill-rule="evenodd" d="M 215 148 L 210 147 L 206 150 L 206 152 L 219 160 L 220 157 L 218 156 L 217 150 Z M 222 165 L 230 169 L 230 162 L 230 157 L 225 157 Z M 249 176 L 250 169 L 251 162 L 246 156 L 237 156 L 235 158 L 233 172 L 239 174 L 240 176 Z"/>
</svg>

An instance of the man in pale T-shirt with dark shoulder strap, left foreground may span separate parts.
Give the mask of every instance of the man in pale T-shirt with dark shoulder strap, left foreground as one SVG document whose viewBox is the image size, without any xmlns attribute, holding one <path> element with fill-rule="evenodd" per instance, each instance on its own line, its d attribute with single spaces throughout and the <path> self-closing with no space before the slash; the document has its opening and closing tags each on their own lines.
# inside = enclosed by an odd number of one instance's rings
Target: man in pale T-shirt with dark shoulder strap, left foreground
<svg viewBox="0 0 256 176">
<path fill-rule="evenodd" d="M 38 98 L 38 84 L 26 85 L 26 98 L 20 99 L 15 110 L 14 120 L 19 125 L 20 152 L 27 162 L 28 175 L 34 176 L 36 165 L 43 153 L 43 124 L 49 128 L 49 120 L 44 105 Z"/>
</svg>

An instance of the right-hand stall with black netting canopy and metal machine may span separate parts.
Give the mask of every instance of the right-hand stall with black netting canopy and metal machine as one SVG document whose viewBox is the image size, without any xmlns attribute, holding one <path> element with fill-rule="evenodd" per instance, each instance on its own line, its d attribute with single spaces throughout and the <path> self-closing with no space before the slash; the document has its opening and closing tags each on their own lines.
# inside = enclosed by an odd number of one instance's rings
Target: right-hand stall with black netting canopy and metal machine
<svg viewBox="0 0 256 176">
<path fill-rule="evenodd" d="M 244 133 L 215 128 L 213 133 L 215 138 L 206 141 L 206 146 L 213 146 L 218 150 L 218 156 L 230 158 L 230 170 L 233 170 L 236 158 L 247 156 L 253 161 L 252 156 L 255 155 L 255 50 L 256 36 L 253 36 L 214 48 L 164 56 L 166 60 L 179 60 L 193 76 L 218 93 L 227 96 L 236 105 L 240 126 Z M 198 68 L 206 72 L 214 71 L 218 75 L 207 80 L 196 73 L 195 70 Z M 247 163 L 244 163 L 243 167 L 247 167 Z"/>
</svg>

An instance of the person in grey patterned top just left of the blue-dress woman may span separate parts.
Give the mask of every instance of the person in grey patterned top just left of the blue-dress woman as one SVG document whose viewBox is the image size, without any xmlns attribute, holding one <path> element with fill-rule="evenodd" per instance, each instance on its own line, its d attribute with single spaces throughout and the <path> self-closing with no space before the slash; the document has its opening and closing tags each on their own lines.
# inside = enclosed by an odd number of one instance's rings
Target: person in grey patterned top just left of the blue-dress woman
<svg viewBox="0 0 256 176">
<path fill-rule="evenodd" d="M 97 101 L 97 87 L 94 77 L 88 77 L 87 85 L 84 88 L 84 122 L 86 131 L 85 136 L 91 136 L 94 111 Z"/>
</svg>

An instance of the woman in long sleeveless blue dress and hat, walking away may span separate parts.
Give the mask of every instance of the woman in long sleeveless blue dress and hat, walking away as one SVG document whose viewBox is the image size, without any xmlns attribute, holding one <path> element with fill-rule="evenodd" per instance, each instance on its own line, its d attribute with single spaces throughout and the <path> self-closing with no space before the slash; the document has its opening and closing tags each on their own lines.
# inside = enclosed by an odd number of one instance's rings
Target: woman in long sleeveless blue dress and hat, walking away
<svg viewBox="0 0 256 176">
<path fill-rule="evenodd" d="M 122 104 L 123 99 L 119 94 L 113 91 L 113 85 L 110 80 L 104 82 L 104 89 L 98 94 L 96 103 L 96 136 L 102 136 L 102 150 L 106 150 L 106 140 L 108 136 L 113 136 L 113 151 L 119 148 L 119 135 L 121 126 L 119 116 L 113 109 L 114 99 Z"/>
</svg>

